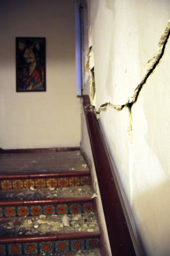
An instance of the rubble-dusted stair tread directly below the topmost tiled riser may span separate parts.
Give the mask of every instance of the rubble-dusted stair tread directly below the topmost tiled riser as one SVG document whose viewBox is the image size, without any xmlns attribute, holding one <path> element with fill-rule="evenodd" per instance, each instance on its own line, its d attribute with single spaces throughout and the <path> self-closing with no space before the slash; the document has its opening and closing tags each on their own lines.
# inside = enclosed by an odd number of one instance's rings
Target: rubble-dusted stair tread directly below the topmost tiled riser
<svg viewBox="0 0 170 256">
<path fill-rule="evenodd" d="M 1 190 L 0 201 L 6 200 L 47 200 L 59 198 L 91 197 L 93 194 L 89 185 L 79 187 L 58 187 L 44 189 Z"/>
</svg>

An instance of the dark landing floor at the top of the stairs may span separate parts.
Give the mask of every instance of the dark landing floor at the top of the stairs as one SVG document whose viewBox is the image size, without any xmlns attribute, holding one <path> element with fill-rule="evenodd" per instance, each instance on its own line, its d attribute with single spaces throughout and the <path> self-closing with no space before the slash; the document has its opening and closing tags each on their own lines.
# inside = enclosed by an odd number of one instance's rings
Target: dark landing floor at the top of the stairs
<svg viewBox="0 0 170 256">
<path fill-rule="evenodd" d="M 88 171 L 81 151 L 0 154 L 0 173 L 44 173 L 47 171 Z"/>
</svg>

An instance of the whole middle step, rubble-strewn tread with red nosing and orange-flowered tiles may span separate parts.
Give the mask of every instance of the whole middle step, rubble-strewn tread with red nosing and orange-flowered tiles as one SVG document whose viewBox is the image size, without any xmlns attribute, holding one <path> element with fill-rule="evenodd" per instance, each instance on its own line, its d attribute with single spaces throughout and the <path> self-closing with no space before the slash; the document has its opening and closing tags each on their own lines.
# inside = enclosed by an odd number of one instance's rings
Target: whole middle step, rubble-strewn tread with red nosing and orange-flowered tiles
<svg viewBox="0 0 170 256">
<path fill-rule="evenodd" d="M 89 185 L 25 191 L 0 191 L 0 217 L 93 212 Z"/>
</svg>

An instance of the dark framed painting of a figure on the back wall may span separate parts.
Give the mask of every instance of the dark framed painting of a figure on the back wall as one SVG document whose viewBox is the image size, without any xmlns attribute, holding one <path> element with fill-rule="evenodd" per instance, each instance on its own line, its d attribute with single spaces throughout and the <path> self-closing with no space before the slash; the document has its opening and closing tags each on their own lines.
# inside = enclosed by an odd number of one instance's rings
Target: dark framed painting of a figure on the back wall
<svg viewBox="0 0 170 256">
<path fill-rule="evenodd" d="M 45 37 L 16 38 L 17 92 L 45 92 Z"/>
</svg>

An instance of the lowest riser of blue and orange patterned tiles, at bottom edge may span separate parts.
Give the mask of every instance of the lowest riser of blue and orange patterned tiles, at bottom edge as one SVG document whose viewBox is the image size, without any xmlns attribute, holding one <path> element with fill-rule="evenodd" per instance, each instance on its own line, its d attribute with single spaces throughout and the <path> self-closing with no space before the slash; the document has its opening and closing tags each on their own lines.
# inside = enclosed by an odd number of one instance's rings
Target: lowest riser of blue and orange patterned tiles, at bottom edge
<svg viewBox="0 0 170 256">
<path fill-rule="evenodd" d="M 0 244 L 0 255 L 34 255 L 37 253 L 78 252 L 98 248 L 98 238 L 40 243 Z"/>
</svg>

